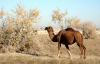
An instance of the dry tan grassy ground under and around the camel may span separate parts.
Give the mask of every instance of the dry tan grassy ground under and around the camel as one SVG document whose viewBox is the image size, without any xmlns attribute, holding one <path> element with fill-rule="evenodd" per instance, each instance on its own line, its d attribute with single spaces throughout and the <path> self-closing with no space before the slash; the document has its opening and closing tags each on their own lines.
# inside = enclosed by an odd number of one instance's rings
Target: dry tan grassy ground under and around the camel
<svg viewBox="0 0 100 64">
<path fill-rule="evenodd" d="M 35 43 L 27 51 L 1 54 L 0 64 L 100 64 L 99 39 L 84 39 L 87 48 L 85 60 L 80 60 L 80 50 L 76 43 L 69 46 L 73 56 L 71 60 L 64 45 L 61 47 L 60 58 L 56 58 L 58 44 L 51 42 L 48 35 L 35 35 L 34 40 Z"/>
</svg>

